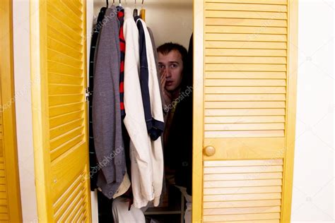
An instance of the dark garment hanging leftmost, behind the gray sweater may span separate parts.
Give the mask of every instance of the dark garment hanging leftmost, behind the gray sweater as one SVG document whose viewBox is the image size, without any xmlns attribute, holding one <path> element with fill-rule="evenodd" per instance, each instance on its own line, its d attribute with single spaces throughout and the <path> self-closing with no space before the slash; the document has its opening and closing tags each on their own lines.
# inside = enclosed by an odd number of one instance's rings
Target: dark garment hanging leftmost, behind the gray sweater
<svg viewBox="0 0 335 223">
<path fill-rule="evenodd" d="M 95 156 L 95 147 L 94 147 L 94 138 L 93 138 L 93 123 L 92 123 L 92 98 L 93 98 L 93 74 L 94 74 L 94 59 L 95 59 L 95 49 L 98 43 L 98 37 L 100 30 L 102 28 L 102 20 L 105 16 L 106 7 L 100 9 L 97 23 L 93 28 L 92 32 L 92 39 L 90 40 L 90 65 L 89 65 L 89 83 L 90 86 L 88 88 L 89 99 L 88 99 L 88 114 L 89 114 L 89 140 L 88 140 L 88 147 L 89 147 L 89 157 L 90 157 L 90 190 L 94 191 L 97 188 L 97 179 L 98 179 L 98 162 L 97 157 Z"/>
</svg>

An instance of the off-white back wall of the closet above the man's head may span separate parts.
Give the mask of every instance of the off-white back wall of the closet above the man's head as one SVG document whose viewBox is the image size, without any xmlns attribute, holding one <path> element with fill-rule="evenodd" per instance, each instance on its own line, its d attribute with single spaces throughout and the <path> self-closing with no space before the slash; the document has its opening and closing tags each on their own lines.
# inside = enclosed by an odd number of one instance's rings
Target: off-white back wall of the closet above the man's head
<svg viewBox="0 0 335 223">
<path fill-rule="evenodd" d="M 112 5 L 112 0 L 109 0 Z M 122 6 L 124 0 L 121 1 Z M 141 1 L 136 1 L 136 8 L 141 9 Z M 115 0 L 119 5 L 119 1 Z M 100 8 L 106 5 L 105 0 L 94 1 L 94 15 L 98 16 Z M 134 8 L 134 1 L 127 1 L 127 6 Z M 153 30 L 156 46 L 165 42 L 177 42 L 186 49 L 193 32 L 193 1 L 192 0 L 146 0 L 146 25 Z"/>
</svg>

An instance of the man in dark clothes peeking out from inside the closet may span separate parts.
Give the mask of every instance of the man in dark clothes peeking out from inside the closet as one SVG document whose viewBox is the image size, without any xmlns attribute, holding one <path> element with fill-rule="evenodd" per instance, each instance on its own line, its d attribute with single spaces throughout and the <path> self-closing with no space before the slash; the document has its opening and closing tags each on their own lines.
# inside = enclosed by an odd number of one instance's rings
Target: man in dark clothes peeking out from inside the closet
<svg viewBox="0 0 335 223">
<path fill-rule="evenodd" d="M 184 220 L 191 222 L 192 81 L 189 80 L 192 80 L 192 71 L 187 67 L 187 49 L 182 45 L 165 43 L 157 51 L 160 88 L 165 101 L 165 176 L 175 181 L 186 198 Z"/>
</svg>

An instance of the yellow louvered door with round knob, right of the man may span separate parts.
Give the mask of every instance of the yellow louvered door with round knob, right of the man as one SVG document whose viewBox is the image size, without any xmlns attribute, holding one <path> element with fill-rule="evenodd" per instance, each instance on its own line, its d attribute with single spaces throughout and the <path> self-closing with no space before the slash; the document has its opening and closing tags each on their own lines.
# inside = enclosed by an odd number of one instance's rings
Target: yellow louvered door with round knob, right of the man
<svg viewBox="0 0 335 223">
<path fill-rule="evenodd" d="M 194 1 L 194 222 L 290 222 L 297 8 Z"/>
</svg>

